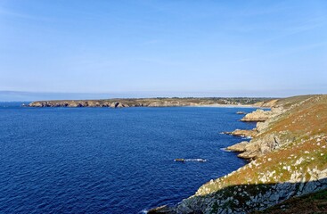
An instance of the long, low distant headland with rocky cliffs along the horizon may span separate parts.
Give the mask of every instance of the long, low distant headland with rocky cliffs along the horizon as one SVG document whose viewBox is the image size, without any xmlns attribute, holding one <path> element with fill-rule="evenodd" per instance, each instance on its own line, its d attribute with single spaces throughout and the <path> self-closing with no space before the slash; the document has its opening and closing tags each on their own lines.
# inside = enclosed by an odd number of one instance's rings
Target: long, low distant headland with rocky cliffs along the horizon
<svg viewBox="0 0 327 214">
<path fill-rule="evenodd" d="M 148 99 L 108 99 L 108 100 L 60 100 L 37 101 L 29 107 L 173 107 L 201 105 L 255 105 L 261 106 L 271 102 L 269 98 L 148 98 Z"/>
</svg>

